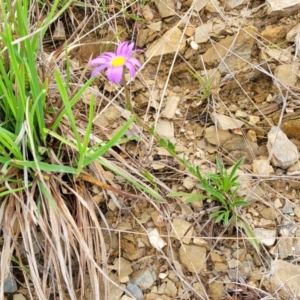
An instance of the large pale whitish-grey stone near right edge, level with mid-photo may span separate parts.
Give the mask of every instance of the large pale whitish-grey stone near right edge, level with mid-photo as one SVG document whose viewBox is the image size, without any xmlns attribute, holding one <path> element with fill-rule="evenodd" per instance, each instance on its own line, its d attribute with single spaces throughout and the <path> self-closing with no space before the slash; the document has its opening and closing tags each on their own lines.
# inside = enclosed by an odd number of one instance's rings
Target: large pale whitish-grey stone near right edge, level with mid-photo
<svg viewBox="0 0 300 300">
<path fill-rule="evenodd" d="M 272 156 L 274 166 L 287 169 L 299 159 L 297 146 L 277 126 L 273 126 L 268 133 L 267 148 Z"/>
</svg>

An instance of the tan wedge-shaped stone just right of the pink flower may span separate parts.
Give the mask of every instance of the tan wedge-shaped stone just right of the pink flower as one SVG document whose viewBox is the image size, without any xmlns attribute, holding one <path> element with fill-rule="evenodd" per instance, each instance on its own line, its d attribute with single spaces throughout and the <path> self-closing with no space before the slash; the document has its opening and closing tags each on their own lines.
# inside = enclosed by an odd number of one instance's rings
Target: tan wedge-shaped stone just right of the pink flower
<svg viewBox="0 0 300 300">
<path fill-rule="evenodd" d="M 146 58 L 174 54 L 177 51 L 182 53 L 186 45 L 182 35 L 182 31 L 177 27 L 169 29 L 147 49 L 145 53 Z"/>
</svg>

